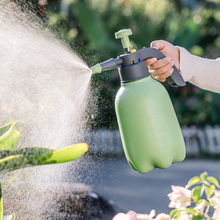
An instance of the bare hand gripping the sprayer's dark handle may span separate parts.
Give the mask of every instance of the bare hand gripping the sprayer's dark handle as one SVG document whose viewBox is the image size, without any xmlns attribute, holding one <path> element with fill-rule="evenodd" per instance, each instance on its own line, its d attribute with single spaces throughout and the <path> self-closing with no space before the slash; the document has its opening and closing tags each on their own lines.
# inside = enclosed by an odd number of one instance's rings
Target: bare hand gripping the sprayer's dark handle
<svg viewBox="0 0 220 220">
<path fill-rule="evenodd" d="M 145 63 L 151 76 L 164 82 L 173 73 L 173 65 L 180 70 L 179 48 L 164 40 L 153 41 L 151 47 L 160 50 L 166 57 L 160 60 L 157 58 L 147 59 Z"/>
</svg>

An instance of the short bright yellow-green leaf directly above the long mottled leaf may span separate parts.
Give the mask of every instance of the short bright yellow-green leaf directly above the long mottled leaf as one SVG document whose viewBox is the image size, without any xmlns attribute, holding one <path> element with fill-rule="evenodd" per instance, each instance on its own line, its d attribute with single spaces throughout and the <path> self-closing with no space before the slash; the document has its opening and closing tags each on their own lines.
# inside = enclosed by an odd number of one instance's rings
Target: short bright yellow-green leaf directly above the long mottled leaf
<svg viewBox="0 0 220 220">
<path fill-rule="evenodd" d="M 13 131 L 13 134 L 9 138 L 0 143 L 0 150 L 15 150 L 18 145 L 19 138 L 20 131 Z"/>
</svg>

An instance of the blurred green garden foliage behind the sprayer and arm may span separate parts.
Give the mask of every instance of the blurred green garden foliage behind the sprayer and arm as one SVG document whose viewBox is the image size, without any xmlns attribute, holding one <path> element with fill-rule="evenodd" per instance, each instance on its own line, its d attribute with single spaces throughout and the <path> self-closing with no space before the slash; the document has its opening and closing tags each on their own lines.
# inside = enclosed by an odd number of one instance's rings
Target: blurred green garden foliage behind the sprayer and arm
<svg viewBox="0 0 220 220">
<path fill-rule="evenodd" d="M 123 53 L 120 41 L 114 39 L 114 33 L 123 28 L 132 29 L 130 39 L 136 49 L 164 39 L 198 56 L 220 56 L 220 3 L 216 0 L 66 0 L 66 3 L 66 11 L 50 10 L 49 26 L 89 66 Z M 92 89 L 98 108 L 89 113 L 93 128 L 117 126 L 114 97 L 119 86 L 117 71 L 93 76 Z M 220 124 L 219 94 L 192 84 L 183 88 L 165 86 L 181 125 Z"/>
</svg>

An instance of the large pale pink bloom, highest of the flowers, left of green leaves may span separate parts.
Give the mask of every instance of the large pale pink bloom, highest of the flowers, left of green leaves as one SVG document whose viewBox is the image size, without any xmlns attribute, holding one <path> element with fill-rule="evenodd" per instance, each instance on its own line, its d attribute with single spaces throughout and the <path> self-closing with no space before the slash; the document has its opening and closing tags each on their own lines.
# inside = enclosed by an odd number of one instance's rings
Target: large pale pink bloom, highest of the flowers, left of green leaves
<svg viewBox="0 0 220 220">
<path fill-rule="evenodd" d="M 173 192 L 168 194 L 170 208 L 186 208 L 191 205 L 191 191 L 181 186 L 171 186 Z"/>
</svg>

